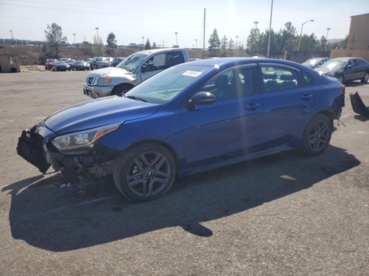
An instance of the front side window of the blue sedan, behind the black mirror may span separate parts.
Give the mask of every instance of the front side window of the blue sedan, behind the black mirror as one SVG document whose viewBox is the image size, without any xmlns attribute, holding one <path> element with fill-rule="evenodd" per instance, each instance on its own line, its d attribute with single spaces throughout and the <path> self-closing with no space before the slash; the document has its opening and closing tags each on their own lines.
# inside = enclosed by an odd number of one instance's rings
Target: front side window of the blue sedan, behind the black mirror
<svg viewBox="0 0 369 276">
<path fill-rule="evenodd" d="M 210 92 L 217 100 L 252 94 L 254 93 L 252 68 L 225 70 L 200 86 L 199 91 Z"/>
</svg>

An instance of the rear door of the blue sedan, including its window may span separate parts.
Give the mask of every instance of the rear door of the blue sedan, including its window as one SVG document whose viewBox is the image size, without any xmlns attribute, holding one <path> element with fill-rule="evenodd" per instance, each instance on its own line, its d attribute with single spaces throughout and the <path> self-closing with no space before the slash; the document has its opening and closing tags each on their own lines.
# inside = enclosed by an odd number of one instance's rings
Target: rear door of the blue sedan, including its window
<svg viewBox="0 0 369 276">
<path fill-rule="evenodd" d="M 313 77 L 297 68 L 259 64 L 264 105 L 262 141 L 275 147 L 292 142 L 313 109 Z"/>
</svg>

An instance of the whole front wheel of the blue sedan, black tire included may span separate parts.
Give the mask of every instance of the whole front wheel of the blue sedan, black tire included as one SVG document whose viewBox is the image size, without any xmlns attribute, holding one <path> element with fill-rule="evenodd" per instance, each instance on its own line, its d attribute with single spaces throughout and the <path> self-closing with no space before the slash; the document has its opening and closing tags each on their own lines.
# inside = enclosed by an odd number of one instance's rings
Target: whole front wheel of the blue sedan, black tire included
<svg viewBox="0 0 369 276">
<path fill-rule="evenodd" d="M 172 187 L 175 176 L 176 162 L 172 153 L 155 143 L 128 149 L 115 160 L 113 168 L 115 186 L 134 202 L 162 197 Z M 128 185 L 128 182 L 135 184 Z"/>
</svg>

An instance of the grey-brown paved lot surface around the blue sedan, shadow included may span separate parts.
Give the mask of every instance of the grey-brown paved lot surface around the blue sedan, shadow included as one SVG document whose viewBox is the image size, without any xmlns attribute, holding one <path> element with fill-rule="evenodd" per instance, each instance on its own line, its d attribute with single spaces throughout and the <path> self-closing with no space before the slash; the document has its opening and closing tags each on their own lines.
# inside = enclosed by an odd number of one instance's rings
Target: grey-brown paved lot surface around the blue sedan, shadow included
<svg viewBox="0 0 369 276">
<path fill-rule="evenodd" d="M 0 74 L 0 275 L 369 275 L 369 85 L 346 87 L 331 145 L 175 181 L 127 202 L 111 178 L 85 197 L 15 152 L 21 131 L 87 100 L 88 72 Z M 50 170 L 51 171 L 51 170 Z"/>
</svg>

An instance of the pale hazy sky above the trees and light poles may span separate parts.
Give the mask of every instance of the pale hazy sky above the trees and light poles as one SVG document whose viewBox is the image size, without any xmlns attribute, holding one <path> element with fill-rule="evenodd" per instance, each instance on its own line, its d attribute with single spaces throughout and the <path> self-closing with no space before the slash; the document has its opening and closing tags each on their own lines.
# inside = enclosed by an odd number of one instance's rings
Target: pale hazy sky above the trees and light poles
<svg viewBox="0 0 369 276">
<path fill-rule="evenodd" d="M 106 42 L 109 32 L 116 35 L 118 45 L 142 43 L 142 36 L 165 47 L 205 47 L 214 28 L 219 37 L 225 35 L 246 43 L 254 22 L 261 32 L 269 28 L 272 0 L 0 0 L 0 38 L 45 40 L 47 24 L 62 26 L 63 35 L 73 43 L 92 42 L 99 28 L 99 36 Z M 345 38 L 350 16 L 369 13 L 368 0 L 274 0 L 272 29 L 283 29 L 291 21 L 298 34 L 312 32 L 320 38 Z"/>
</svg>

